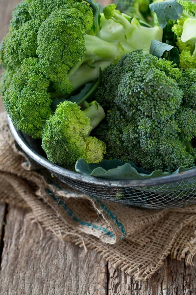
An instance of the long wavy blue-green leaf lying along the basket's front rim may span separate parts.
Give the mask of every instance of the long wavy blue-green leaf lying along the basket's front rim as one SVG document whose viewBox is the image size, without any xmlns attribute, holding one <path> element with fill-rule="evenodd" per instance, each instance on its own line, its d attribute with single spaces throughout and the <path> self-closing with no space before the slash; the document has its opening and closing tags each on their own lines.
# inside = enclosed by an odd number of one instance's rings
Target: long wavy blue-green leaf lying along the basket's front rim
<svg viewBox="0 0 196 295">
<path fill-rule="evenodd" d="M 196 169 L 196 166 L 191 168 L 179 167 L 172 174 L 182 173 L 190 169 Z M 86 176 L 123 180 L 147 179 L 171 175 L 169 172 L 162 172 L 162 170 L 148 172 L 143 168 L 136 167 L 132 162 L 125 163 L 118 159 L 112 161 L 103 160 L 99 164 L 87 164 L 83 159 L 79 159 L 75 164 L 75 170 Z"/>
</svg>

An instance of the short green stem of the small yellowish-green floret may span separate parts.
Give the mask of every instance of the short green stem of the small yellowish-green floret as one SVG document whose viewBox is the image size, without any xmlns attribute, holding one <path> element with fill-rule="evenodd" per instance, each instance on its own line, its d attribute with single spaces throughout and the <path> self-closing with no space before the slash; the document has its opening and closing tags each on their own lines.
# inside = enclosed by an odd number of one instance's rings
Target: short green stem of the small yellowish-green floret
<svg viewBox="0 0 196 295">
<path fill-rule="evenodd" d="M 98 102 L 93 103 L 89 108 L 84 110 L 84 113 L 85 116 L 91 120 L 91 131 L 105 118 L 104 110 Z M 89 136 L 91 131 L 86 135 L 86 137 Z"/>
</svg>

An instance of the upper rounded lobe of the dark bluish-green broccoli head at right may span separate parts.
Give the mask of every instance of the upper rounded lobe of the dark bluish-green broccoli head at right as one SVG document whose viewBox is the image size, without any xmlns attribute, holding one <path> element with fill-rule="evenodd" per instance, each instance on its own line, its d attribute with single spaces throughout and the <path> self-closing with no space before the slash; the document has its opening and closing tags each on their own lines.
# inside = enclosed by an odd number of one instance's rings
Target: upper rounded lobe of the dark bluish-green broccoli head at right
<svg viewBox="0 0 196 295">
<path fill-rule="evenodd" d="M 137 107 L 150 118 L 169 119 L 182 101 L 182 90 L 173 79 L 180 75 L 170 61 L 132 52 L 104 71 L 97 100 L 115 103 L 130 114 Z"/>
</svg>

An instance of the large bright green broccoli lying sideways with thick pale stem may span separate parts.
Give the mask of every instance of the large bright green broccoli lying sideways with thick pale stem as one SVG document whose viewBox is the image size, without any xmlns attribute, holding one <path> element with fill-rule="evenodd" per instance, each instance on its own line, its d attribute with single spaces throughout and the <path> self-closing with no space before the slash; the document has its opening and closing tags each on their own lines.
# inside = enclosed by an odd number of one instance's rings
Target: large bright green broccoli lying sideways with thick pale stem
<svg viewBox="0 0 196 295">
<path fill-rule="evenodd" d="M 14 9 L 0 46 L 0 92 L 19 130 L 41 137 L 58 99 L 69 99 L 124 53 L 148 52 L 152 39 L 161 41 L 162 29 L 130 22 L 115 8 L 100 14 L 93 0 L 24 0 Z"/>
</svg>

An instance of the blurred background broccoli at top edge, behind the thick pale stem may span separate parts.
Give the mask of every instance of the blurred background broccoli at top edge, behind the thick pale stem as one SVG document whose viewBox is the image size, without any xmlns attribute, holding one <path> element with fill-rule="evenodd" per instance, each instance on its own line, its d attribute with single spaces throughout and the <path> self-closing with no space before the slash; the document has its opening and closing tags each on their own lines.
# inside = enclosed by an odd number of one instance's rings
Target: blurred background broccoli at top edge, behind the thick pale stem
<svg viewBox="0 0 196 295">
<path fill-rule="evenodd" d="M 137 17 L 144 22 L 148 21 L 150 0 L 114 0 L 114 3 L 123 13 Z"/>
</svg>

